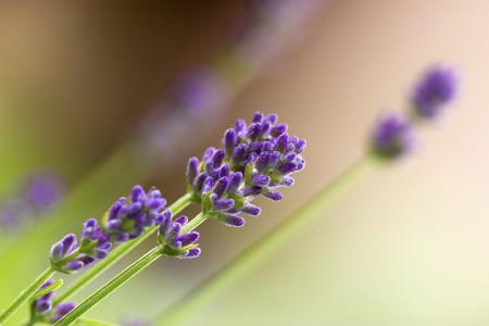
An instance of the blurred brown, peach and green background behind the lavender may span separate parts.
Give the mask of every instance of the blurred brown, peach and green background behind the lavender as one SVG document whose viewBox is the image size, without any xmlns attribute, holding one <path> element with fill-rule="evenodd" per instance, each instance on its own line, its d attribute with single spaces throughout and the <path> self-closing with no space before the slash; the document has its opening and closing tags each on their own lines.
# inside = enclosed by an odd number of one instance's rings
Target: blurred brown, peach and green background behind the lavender
<svg viewBox="0 0 489 326">
<path fill-rule="evenodd" d="M 309 141 L 286 200 L 242 229 L 208 223 L 201 259 L 162 259 L 89 313 L 151 319 L 362 156 L 378 114 L 408 110 L 414 80 L 442 62 L 460 96 L 414 154 L 368 174 L 188 325 L 488 325 L 488 22 L 477 0 L 1 2 L 0 198 L 39 171 L 65 183 L 59 206 L 2 230 L 1 304 L 51 242 L 133 184 L 177 198 L 187 155 L 237 117 L 278 113 Z"/>
</svg>

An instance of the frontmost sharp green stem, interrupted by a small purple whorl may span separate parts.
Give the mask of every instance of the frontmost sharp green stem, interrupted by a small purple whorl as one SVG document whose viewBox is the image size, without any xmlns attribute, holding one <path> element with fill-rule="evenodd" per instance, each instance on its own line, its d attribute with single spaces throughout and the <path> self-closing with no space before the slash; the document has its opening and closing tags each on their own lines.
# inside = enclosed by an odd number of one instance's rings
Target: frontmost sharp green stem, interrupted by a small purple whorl
<svg viewBox="0 0 489 326">
<path fill-rule="evenodd" d="M 206 217 L 202 213 L 199 213 L 195 218 L 192 218 L 186 227 L 181 229 L 181 233 L 189 233 L 202 224 Z M 188 226 L 190 225 L 190 226 Z M 188 226 L 188 227 L 187 227 Z M 161 256 L 161 248 L 154 247 L 150 251 L 148 251 L 143 256 L 139 258 L 120 274 L 117 274 L 114 278 L 109 280 L 104 286 L 93 292 L 90 297 L 85 299 L 79 305 L 77 305 L 74 310 L 67 313 L 63 318 L 61 318 L 54 325 L 63 326 L 70 325 L 75 322 L 79 316 L 86 313 L 88 310 L 97 305 L 100 301 L 102 301 L 106 296 L 118 289 L 123 286 L 127 280 L 136 276 L 138 273 L 142 272 L 146 267 L 151 265 L 154 261 L 156 261 Z"/>
</svg>

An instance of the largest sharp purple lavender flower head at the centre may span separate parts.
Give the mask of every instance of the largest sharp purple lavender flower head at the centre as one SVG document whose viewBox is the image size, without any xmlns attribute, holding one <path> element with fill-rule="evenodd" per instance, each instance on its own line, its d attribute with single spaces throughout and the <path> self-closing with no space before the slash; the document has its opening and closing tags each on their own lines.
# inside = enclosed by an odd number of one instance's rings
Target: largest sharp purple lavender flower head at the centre
<svg viewBox="0 0 489 326">
<path fill-rule="evenodd" d="M 256 196 L 278 201 L 279 187 L 293 185 L 291 174 L 304 167 L 305 140 L 287 134 L 277 115 L 256 112 L 250 125 L 242 120 L 223 136 L 222 149 L 209 148 L 202 162 L 192 158 L 187 167 L 187 189 L 210 218 L 242 226 L 244 213 L 260 214 Z"/>
</svg>

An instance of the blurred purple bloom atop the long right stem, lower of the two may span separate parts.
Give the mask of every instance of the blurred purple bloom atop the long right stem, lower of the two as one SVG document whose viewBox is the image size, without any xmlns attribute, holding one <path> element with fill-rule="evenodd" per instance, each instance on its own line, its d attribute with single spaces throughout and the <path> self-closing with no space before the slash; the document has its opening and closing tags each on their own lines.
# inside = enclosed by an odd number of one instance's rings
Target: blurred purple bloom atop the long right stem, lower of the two
<svg viewBox="0 0 489 326">
<path fill-rule="evenodd" d="M 379 120 L 372 138 L 375 154 L 383 159 L 396 159 L 409 152 L 412 146 L 413 135 L 409 122 L 393 114 Z"/>
</svg>

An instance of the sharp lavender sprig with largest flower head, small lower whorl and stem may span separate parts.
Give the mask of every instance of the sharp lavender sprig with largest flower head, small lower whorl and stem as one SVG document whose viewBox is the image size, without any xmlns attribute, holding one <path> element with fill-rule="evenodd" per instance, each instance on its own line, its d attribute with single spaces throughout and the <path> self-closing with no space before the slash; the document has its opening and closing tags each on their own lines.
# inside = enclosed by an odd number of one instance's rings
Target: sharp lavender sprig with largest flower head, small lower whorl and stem
<svg viewBox="0 0 489 326">
<path fill-rule="evenodd" d="M 304 167 L 302 152 L 305 140 L 287 134 L 275 114 L 255 113 L 251 124 L 238 121 L 225 131 L 222 148 L 209 148 L 202 159 L 191 158 L 187 164 L 187 195 L 201 212 L 191 221 L 185 216 L 172 220 L 162 214 L 158 246 L 134 262 L 108 284 L 87 298 L 57 325 L 68 325 L 98 304 L 112 291 L 149 266 L 161 255 L 180 259 L 197 258 L 201 251 L 193 231 L 206 220 L 226 226 L 244 225 L 242 216 L 260 214 L 253 200 L 264 197 L 279 201 L 280 187 L 293 184 L 292 174 Z M 164 215 L 164 216 L 163 216 Z"/>
</svg>

